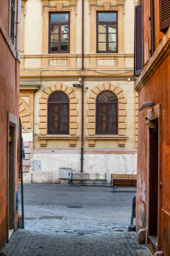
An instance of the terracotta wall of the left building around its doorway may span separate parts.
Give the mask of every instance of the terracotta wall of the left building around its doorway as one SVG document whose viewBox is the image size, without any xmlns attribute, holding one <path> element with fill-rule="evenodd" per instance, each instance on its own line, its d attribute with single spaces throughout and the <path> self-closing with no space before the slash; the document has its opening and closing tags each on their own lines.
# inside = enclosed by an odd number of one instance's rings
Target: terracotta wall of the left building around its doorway
<svg viewBox="0 0 170 256">
<path fill-rule="evenodd" d="M 2 1 L 1 1 L 2 2 Z M 7 1 L 5 1 L 7 2 Z M 6 23 L 8 13 L 0 4 L 0 18 Z M 4 5 L 4 1 L 3 1 Z M 4 6 L 5 8 L 5 6 Z M 17 71 L 17 86 L 15 81 L 15 68 Z M 0 250 L 7 238 L 7 111 L 19 118 L 19 62 L 11 54 L 2 34 L 0 33 Z M 3 111 L 3 121 L 1 113 Z M 19 122 L 19 119 L 18 119 Z M 16 153 L 18 153 L 18 128 Z M 16 161 L 18 154 L 16 156 Z M 18 187 L 18 163 L 16 164 L 16 186 Z M 17 188 L 16 188 L 17 190 Z"/>
</svg>

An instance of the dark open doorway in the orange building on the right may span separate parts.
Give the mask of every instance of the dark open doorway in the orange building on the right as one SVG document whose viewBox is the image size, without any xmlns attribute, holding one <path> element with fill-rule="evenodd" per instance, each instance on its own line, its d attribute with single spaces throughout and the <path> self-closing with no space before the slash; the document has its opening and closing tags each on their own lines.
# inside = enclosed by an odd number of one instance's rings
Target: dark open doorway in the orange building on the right
<svg viewBox="0 0 170 256">
<path fill-rule="evenodd" d="M 158 236 L 159 120 L 149 128 L 149 245 L 155 253 Z"/>
</svg>

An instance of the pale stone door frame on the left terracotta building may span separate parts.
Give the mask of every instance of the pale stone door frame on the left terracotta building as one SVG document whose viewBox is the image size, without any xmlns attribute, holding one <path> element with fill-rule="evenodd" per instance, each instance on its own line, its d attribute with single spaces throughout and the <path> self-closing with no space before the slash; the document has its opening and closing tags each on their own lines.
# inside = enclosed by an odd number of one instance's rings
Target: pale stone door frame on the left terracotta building
<svg viewBox="0 0 170 256">
<path fill-rule="evenodd" d="M 10 126 L 14 128 L 14 230 L 16 226 L 16 156 L 17 156 L 17 117 L 10 112 L 7 112 L 7 241 L 9 241 L 9 131 Z"/>
</svg>

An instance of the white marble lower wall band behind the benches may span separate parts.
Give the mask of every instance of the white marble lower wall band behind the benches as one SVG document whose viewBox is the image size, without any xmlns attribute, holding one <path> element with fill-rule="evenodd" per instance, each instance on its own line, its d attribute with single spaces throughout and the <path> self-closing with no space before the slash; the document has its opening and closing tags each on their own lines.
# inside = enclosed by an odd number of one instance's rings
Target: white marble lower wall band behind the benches
<svg viewBox="0 0 170 256">
<path fill-rule="evenodd" d="M 59 168 L 71 168 L 80 172 L 79 154 L 33 154 L 32 161 L 40 161 L 41 168 L 24 174 L 24 182 L 60 183 Z M 137 154 L 84 154 L 83 169 L 89 173 L 136 174 Z"/>
</svg>

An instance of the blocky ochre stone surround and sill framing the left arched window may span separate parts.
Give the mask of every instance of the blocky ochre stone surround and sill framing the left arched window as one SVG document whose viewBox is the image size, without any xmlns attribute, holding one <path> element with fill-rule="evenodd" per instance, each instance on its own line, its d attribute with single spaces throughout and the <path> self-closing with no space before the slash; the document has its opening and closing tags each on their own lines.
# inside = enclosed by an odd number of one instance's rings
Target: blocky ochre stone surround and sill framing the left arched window
<svg viewBox="0 0 170 256">
<path fill-rule="evenodd" d="M 60 91 L 60 92 L 65 92 L 67 96 L 69 97 L 70 101 L 70 133 L 69 135 L 47 135 L 47 99 L 51 95 L 52 92 L 55 91 Z M 42 92 L 42 96 L 39 100 L 40 103 L 40 110 L 39 110 L 39 116 L 40 116 L 40 123 L 39 123 L 39 129 L 40 129 L 40 137 L 39 139 L 41 140 L 41 146 L 47 146 L 47 139 L 50 140 L 70 140 L 70 146 L 76 146 L 76 140 L 72 138 L 72 136 L 76 137 L 76 130 L 78 128 L 78 124 L 76 122 L 76 117 L 78 115 L 77 111 L 77 103 L 78 100 L 75 97 L 74 90 L 70 86 L 63 85 L 62 83 L 56 83 L 54 85 L 51 85 L 50 87 L 45 87 L 45 89 Z M 47 138 L 42 139 L 43 137 L 41 136 L 46 136 Z M 69 137 L 71 136 L 71 138 Z M 76 137 L 77 138 L 77 137 Z"/>
</svg>

